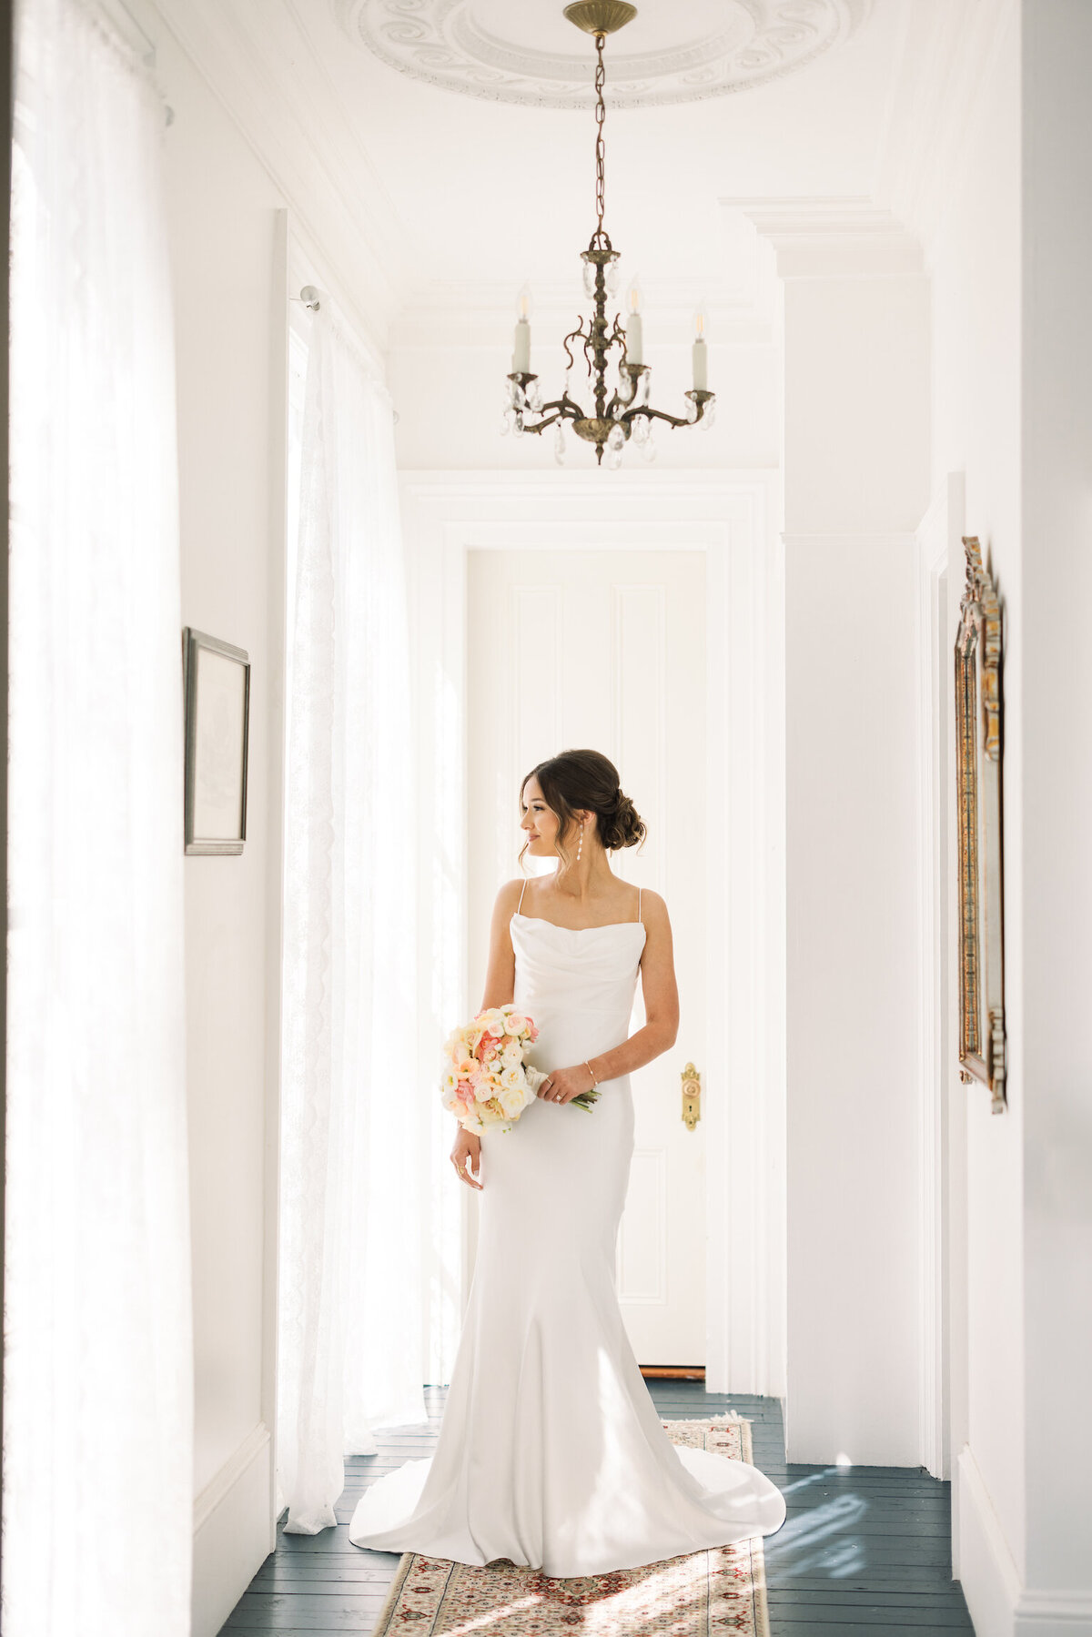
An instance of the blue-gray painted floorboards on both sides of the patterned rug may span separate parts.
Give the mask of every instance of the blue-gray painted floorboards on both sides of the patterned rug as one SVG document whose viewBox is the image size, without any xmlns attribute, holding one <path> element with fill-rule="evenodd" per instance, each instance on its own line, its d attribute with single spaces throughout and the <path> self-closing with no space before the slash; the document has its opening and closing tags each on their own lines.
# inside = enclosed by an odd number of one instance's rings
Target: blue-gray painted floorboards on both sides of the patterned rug
<svg viewBox="0 0 1092 1637">
<path fill-rule="evenodd" d="M 951 1580 L 950 1485 L 905 1467 L 789 1467 L 776 1400 L 706 1393 L 697 1382 L 650 1382 L 648 1390 L 665 1421 L 735 1409 L 751 1423 L 755 1465 L 787 1503 L 784 1526 L 765 1540 L 771 1637 L 889 1637 L 902 1627 L 946 1637 L 974 1629 Z M 445 1390 L 426 1393 L 427 1426 L 391 1429 L 378 1455 L 345 1462 L 337 1529 L 278 1532 L 277 1550 L 223 1637 L 372 1632 L 398 1555 L 350 1545 L 347 1524 L 377 1473 L 432 1450 Z"/>
</svg>

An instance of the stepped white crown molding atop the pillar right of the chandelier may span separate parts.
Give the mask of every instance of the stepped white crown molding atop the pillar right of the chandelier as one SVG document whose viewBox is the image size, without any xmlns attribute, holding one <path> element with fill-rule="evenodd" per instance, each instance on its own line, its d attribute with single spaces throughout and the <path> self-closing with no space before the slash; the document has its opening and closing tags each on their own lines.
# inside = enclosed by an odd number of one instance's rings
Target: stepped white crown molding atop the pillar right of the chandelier
<svg viewBox="0 0 1092 1637">
<path fill-rule="evenodd" d="M 863 195 L 722 198 L 774 252 L 779 278 L 905 278 L 923 272 L 922 246 L 899 218 Z"/>
</svg>

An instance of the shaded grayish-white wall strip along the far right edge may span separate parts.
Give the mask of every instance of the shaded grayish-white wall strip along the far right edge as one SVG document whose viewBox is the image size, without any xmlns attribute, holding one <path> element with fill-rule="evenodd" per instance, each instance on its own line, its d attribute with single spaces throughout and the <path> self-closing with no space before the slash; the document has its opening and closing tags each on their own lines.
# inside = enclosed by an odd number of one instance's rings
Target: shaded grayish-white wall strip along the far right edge
<svg viewBox="0 0 1092 1637">
<path fill-rule="evenodd" d="M 1023 1378 L 1020 1619 L 1092 1632 L 1092 10 L 1023 7 Z M 1077 1026 L 1074 1026 L 1077 1025 Z M 1072 1629 L 1072 1627 L 1069 1627 Z"/>
</svg>

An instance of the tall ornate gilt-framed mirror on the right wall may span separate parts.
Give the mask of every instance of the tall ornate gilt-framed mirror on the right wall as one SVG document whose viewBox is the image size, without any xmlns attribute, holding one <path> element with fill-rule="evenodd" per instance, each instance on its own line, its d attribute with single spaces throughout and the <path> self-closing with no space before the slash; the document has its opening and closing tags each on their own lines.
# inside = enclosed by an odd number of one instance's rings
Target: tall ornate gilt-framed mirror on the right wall
<svg viewBox="0 0 1092 1637">
<path fill-rule="evenodd" d="M 956 845 L 959 859 L 959 1077 L 1005 1108 L 1002 894 L 1002 611 L 976 535 L 956 637 Z"/>
</svg>

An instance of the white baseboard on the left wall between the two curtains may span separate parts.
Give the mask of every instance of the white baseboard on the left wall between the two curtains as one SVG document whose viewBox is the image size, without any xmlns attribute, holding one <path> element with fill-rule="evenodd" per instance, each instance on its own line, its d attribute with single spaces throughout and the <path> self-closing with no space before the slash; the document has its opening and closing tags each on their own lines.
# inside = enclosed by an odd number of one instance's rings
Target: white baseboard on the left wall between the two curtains
<svg viewBox="0 0 1092 1637">
<path fill-rule="evenodd" d="M 259 1421 L 193 1501 L 192 1637 L 216 1637 L 273 1549 L 272 1454 Z"/>
</svg>

